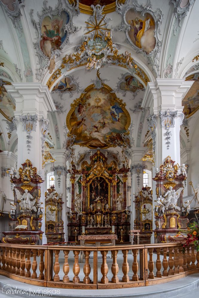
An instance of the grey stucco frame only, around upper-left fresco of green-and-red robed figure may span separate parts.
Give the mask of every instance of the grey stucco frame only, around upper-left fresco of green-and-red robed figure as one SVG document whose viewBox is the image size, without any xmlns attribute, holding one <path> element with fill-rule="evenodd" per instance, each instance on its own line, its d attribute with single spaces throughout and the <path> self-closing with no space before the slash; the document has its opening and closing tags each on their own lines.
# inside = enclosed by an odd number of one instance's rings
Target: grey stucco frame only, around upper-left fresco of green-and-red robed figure
<svg viewBox="0 0 199 298">
<path fill-rule="evenodd" d="M 79 14 L 78 6 L 70 5 L 69 2 L 67 2 L 67 1 L 65 1 L 64 5 L 63 5 L 62 0 L 58 0 L 58 4 L 53 9 L 50 6 L 47 7 L 47 0 L 44 0 L 41 14 L 37 13 L 37 17 L 39 19 L 38 22 L 36 22 L 33 18 L 33 9 L 31 9 L 31 11 L 30 11 L 31 23 L 33 24 L 33 27 L 35 28 L 36 40 L 37 40 L 36 42 L 33 42 L 33 47 L 35 49 L 35 54 L 38 57 L 37 64 L 39 67 L 36 72 L 36 80 L 38 80 L 38 81 L 41 80 L 41 78 L 43 77 L 44 70 L 49 65 L 49 58 L 46 55 L 44 55 L 44 53 L 42 52 L 41 47 L 40 47 L 40 41 L 42 40 L 42 38 L 41 38 L 42 22 L 43 22 L 44 18 L 47 16 L 53 20 L 53 17 L 55 15 L 60 15 L 62 11 L 65 11 L 69 15 L 69 22 L 68 22 L 68 24 L 64 25 L 64 32 L 67 31 L 67 36 L 66 36 L 64 42 L 61 44 L 60 50 L 59 49 L 56 49 L 56 50 L 51 49 L 51 57 L 55 56 L 55 58 L 57 58 L 61 55 L 62 50 L 66 44 L 70 45 L 70 41 L 69 41 L 70 35 L 72 33 L 76 33 L 78 31 L 78 27 L 76 27 L 72 21 L 73 16 Z"/>
</svg>

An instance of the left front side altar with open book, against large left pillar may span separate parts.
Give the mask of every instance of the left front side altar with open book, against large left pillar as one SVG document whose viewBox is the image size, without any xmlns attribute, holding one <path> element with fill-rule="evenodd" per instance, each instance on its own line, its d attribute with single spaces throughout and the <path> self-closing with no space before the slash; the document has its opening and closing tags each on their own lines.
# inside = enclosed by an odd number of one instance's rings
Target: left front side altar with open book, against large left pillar
<svg viewBox="0 0 199 298">
<path fill-rule="evenodd" d="M 41 187 L 44 182 L 27 159 L 19 168 L 19 178 L 10 174 L 15 202 L 11 204 L 9 214 L 9 232 L 3 232 L 3 243 L 42 244 L 42 217 L 44 206 L 40 201 Z"/>
</svg>

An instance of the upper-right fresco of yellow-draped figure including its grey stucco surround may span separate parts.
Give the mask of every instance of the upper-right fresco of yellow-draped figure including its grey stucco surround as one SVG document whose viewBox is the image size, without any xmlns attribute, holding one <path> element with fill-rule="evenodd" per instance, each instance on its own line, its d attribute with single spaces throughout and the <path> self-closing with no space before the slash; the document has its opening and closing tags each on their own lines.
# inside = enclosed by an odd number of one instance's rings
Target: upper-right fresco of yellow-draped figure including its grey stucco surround
<svg viewBox="0 0 199 298">
<path fill-rule="evenodd" d="M 164 16 L 161 9 L 154 12 L 150 0 L 145 5 L 139 4 L 137 0 L 127 0 L 125 4 L 116 1 L 116 11 L 122 15 L 122 21 L 113 29 L 125 32 L 127 42 L 137 53 L 147 57 L 148 63 L 159 75 L 159 53 L 162 46 L 159 36 Z"/>
</svg>

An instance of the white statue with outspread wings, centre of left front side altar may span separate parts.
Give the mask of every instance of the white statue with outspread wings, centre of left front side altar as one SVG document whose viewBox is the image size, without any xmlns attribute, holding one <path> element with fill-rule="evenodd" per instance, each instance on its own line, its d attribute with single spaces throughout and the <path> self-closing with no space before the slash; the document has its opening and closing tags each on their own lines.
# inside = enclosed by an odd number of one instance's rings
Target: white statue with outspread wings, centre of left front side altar
<svg viewBox="0 0 199 298">
<path fill-rule="evenodd" d="M 35 205 L 36 198 L 33 198 L 33 196 L 28 192 L 27 189 L 25 189 L 24 194 L 21 195 L 20 191 L 15 188 L 15 193 L 17 196 L 17 201 L 19 203 L 19 206 L 21 207 L 20 212 L 31 212 L 37 211 L 37 208 Z"/>
</svg>

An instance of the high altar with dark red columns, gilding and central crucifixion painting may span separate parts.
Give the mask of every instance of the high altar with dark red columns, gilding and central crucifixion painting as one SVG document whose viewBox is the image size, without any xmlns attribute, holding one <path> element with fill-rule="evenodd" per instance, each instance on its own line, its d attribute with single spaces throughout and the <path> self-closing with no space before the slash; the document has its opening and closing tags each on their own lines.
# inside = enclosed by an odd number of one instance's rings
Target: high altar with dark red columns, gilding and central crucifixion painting
<svg viewBox="0 0 199 298">
<path fill-rule="evenodd" d="M 78 235 L 105 235 L 114 233 L 120 242 L 129 241 L 129 211 L 127 207 L 127 173 L 124 164 L 118 169 L 115 160 L 107 163 L 100 150 L 70 170 L 72 183 L 71 210 L 69 212 L 68 238 Z M 75 184 L 78 192 L 75 193 Z"/>
</svg>

